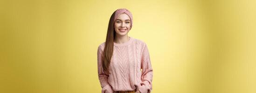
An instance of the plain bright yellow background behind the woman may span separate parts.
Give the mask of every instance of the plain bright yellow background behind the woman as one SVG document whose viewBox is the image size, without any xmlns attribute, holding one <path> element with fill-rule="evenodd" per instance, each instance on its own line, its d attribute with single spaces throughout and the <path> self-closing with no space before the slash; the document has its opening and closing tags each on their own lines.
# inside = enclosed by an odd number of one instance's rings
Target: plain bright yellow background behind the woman
<svg viewBox="0 0 256 93">
<path fill-rule="evenodd" d="M 0 93 L 100 93 L 97 46 L 133 14 L 152 93 L 256 93 L 256 0 L 1 0 Z"/>
</svg>

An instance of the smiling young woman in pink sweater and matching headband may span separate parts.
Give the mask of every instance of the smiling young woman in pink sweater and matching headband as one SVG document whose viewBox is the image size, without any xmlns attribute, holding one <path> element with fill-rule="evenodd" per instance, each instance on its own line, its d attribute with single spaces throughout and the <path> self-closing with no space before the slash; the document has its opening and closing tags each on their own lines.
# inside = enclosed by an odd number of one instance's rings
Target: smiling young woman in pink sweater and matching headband
<svg viewBox="0 0 256 93">
<path fill-rule="evenodd" d="M 98 46 L 98 78 L 102 93 L 150 93 L 153 70 L 145 42 L 128 36 L 132 15 L 116 10 L 110 18 L 106 41 Z"/>
</svg>

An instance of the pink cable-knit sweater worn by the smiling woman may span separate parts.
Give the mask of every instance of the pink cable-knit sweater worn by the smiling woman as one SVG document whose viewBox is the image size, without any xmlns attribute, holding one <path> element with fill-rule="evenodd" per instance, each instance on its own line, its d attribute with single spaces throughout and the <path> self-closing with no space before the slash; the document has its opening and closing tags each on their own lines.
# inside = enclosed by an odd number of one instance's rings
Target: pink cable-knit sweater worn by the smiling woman
<svg viewBox="0 0 256 93">
<path fill-rule="evenodd" d="M 145 42 L 130 37 L 125 43 L 114 43 L 110 74 L 103 72 L 104 46 L 105 42 L 98 46 L 97 51 L 98 78 L 102 93 L 135 89 L 141 93 L 152 91 L 153 70 Z"/>
</svg>

